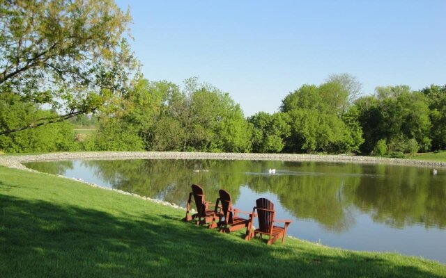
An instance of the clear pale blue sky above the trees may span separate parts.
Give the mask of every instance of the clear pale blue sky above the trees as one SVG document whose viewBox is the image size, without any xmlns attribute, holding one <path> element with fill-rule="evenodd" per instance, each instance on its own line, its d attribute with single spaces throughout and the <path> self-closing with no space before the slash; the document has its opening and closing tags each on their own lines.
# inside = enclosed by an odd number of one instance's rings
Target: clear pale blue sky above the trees
<svg viewBox="0 0 446 278">
<path fill-rule="evenodd" d="M 199 76 L 246 116 L 348 73 L 379 85 L 446 84 L 446 0 L 136 1 L 133 50 L 151 81 Z"/>
</svg>

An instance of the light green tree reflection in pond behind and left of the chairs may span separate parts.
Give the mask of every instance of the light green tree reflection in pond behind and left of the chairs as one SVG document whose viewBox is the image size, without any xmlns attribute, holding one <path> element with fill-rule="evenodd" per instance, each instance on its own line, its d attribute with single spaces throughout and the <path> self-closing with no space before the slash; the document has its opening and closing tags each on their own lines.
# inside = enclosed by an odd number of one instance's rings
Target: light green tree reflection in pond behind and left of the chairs
<svg viewBox="0 0 446 278">
<path fill-rule="evenodd" d="M 92 167 L 95 175 L 113 188 L 183 206 L 192 183 L 201 185 L 206 199 L 212 202 L 220 188 L 228 190 L 236 200 L 240 185 L 246 183 L 243 170 L 249 167 L 248 161 L 201 160 L 84 161 L 84 165 Z"/>
</svg>

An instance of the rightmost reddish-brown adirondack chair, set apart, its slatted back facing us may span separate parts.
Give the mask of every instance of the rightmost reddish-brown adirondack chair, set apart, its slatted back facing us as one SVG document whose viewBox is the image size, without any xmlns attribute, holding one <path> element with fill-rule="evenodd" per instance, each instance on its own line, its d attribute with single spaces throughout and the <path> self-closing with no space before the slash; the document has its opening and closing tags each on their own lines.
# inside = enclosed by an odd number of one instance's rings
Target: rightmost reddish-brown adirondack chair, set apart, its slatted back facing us
<svg viewBox="0 0 446 278">
<path fill-rule="evenodd" d="M 256 214 L 254 214 L 257 211 Z M 252 210 L 252 214 L 259 218 L 259 229 L 254 230 L 254 237 L 256 234 L 266 234 L 270 238 L 268 239 L 268 245 L 274 243 L 278 238 L 282 236 L 282 243 L 285 243 L 286 228 L 291 224 L 291 220 L 275 220 L 274 204 L 270 200 L 265 198 L 256 199 L 256 206 Z M 282 222 L 284 227 L 275 226 L 275 223 Z"/>
</svg>

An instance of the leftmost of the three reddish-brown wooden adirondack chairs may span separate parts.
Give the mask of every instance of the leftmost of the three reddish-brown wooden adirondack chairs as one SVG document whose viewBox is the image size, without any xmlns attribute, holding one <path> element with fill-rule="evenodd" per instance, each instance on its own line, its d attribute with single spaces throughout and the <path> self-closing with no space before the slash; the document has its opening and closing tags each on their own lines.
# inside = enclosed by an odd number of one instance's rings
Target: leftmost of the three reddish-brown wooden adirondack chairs
<svg viewBox="0 0 446 278">
<path fill-rule="evenodd" d="M 186 205 L 186 217 L 182 220 L 184 222 L 189 222 L 190 220 L 197 220 L 198 225 L 208 224 L 209 228 L 213 229 L 217 227 L 217 222 L 213 222 L 214 219 L 221 218 L 220 208 L 215 206 L 215 209 L 210 209 L 213 206 L 211 202 L 206 202 L 204 197 L 204 191 L 201 186 L 197 184 L 192 184 L 192 192 L 189 193 L 189 199 L 187 199 Z M 192 199 L 193 197 L 193 199 Z M 195 202 L 197 206 L 197 213 L 190 215 L 191 203 Z"/>
</svg>

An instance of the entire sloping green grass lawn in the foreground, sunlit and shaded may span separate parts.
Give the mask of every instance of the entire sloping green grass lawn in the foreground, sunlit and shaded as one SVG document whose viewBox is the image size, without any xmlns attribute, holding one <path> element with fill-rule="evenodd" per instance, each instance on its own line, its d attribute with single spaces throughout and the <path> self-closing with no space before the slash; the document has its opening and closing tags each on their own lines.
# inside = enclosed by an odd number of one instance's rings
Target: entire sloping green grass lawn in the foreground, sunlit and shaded
<svg viewBox="0 0 446 278">
<path fill-rule="evenodd" d="M 0 167 L 0 277 L 446 277 L 446 265 L 399 254 L 246 242 L 184 213 Z"/>
</svg>

